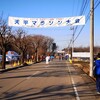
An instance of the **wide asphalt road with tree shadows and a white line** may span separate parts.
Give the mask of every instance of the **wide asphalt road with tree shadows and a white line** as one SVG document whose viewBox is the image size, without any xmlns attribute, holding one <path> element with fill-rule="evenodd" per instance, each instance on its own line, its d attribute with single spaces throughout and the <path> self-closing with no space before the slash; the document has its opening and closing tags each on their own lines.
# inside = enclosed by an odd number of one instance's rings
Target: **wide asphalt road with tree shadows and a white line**
<svg viewBox="0 0 100 100">
<path fill-rule="evenodd" d="M 100 100 L 95 81 L 66 61 L 54 60 L 0 74 L 0 100 Z"/>
</svg>

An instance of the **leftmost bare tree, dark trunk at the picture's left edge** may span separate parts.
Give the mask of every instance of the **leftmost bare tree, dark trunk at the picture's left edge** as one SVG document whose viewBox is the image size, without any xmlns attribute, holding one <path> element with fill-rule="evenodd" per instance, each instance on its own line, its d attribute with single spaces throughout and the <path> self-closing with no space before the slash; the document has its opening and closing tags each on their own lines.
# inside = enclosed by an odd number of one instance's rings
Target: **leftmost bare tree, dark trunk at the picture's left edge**
<svg viewBox="0 0 100 100">
<path fill-rule="evenodd" d="M 7 23 L 0 18 L 0 49 L 2 51 L 2 69 L 5 69 L 6 52 L 12 43 L 11 27 L 7 26 Z"/>
</svg>

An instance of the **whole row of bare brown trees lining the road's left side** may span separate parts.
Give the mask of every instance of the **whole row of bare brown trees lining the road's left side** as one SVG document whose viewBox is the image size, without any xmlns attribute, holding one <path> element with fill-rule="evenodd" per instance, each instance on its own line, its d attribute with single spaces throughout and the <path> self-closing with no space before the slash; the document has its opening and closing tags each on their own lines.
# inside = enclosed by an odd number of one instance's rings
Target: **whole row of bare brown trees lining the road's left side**
<svg viewBox="0 0 100 100">
<path fill-rule="evenodd" d="M 43 35 L 28 35 L 23 29 L 12 31 L 12 28 L 0 18 L 0 51 L 2 54 L 2 69 L 5 69 L 6 52 L 14 50 L 21 56 L 21 64 L 27 55 L 34 55 L 35 62 L 39 55 L 54 51 L 54 39 Z M 56 48 L 55 48 L 56 49 Z"/>
</svg>

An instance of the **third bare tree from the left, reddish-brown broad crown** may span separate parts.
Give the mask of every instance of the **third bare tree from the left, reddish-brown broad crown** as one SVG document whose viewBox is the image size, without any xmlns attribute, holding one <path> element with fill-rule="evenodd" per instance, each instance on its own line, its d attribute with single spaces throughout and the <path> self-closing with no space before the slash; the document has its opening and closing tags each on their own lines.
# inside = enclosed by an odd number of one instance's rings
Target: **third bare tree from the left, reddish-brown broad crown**
<svg viewBox="0 0 100 100">
<path fill-rule="evenodd" d="M 32 38 L 32 46 L 35 52 L 35 62 L 38 62 L 38 55 L 46 54 L 47 50 L 53 42 L 53 39 L 43 35 L 34 35 Z"/>
</svg>

